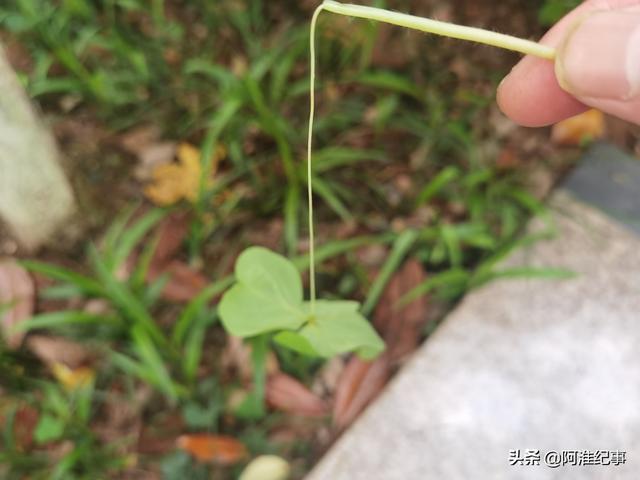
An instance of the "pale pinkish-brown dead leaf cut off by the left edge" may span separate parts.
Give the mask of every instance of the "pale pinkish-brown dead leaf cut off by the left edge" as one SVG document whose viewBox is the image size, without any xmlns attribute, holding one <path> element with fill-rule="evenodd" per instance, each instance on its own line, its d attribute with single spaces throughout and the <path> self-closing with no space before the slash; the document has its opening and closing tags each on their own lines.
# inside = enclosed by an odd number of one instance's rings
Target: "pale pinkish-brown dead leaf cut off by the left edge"
<svg viewBox="0 0 640 480">
<path fill-rule="evenodd" d="M 18 348 L 24 332 L 13 328 L 31 317 L 34 309 L 33 279 L 18 262 L 0 260 L 0 331 L 9 348 Z"/>
</svg>

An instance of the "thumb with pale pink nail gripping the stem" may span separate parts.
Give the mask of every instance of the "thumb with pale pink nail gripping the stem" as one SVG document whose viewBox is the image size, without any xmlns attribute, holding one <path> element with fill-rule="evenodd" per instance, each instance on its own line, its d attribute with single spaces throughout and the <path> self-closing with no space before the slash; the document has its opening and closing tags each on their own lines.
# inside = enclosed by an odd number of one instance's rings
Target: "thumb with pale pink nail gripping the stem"
<svg viewBox="0 0 640 480">
<path fill-rule="evenodd" d="M 640 11 L 584 16 L 558 49 L 556 76 L 581 102 L 640 123 Z"/>
</svg>

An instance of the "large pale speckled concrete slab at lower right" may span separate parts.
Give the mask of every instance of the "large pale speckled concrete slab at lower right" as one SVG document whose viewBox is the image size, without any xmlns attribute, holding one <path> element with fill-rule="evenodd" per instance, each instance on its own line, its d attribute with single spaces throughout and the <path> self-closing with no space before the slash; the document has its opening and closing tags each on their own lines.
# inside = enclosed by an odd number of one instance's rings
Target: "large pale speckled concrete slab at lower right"
<svg viewBox="0 0 640 480">
<path fill-rule="evenodd" d="M 558 236 L 507 263 L 578 277 L 468 295 L 307 480 L 640 478 L 640 238 L 567 193 L 552 207 Z M 510 465 L 527 449 L 540 465 Z M 626 463 L 545 465 L 563 450 Z"/>
</svg>

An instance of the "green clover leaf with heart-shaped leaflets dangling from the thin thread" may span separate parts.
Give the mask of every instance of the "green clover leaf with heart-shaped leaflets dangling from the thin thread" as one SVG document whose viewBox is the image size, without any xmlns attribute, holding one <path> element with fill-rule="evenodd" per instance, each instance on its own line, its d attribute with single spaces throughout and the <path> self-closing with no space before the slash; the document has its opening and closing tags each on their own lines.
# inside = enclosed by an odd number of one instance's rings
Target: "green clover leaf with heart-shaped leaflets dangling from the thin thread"
<svg viewBox="0 0 640 480">
<path fill-rule="evenodd" d="M 333 357 L 355 351 L 369 359 L 384 342 L 350 301 L 303 301 L 302 282 L 293 264 L 263 247 L 245 250 L 236 262 L 237 283 L 222 297 L 219 312 L 231 335 L 252 337 L 279 332 L 274 340 L 311 356 Z"/>
</svg>

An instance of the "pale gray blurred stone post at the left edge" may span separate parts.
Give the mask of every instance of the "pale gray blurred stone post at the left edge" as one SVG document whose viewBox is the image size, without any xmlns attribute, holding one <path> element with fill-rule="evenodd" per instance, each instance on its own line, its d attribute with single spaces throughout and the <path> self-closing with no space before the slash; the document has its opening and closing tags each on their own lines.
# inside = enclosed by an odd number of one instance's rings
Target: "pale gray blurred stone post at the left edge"
<svg viewBox="0 0 640 480">
<path fill-rule="evenodd" d="M 0 47 L 0 219 L 27 250 L 59 231 L 75 211 L 55 141 Z"/>
</svg>

